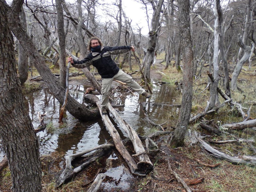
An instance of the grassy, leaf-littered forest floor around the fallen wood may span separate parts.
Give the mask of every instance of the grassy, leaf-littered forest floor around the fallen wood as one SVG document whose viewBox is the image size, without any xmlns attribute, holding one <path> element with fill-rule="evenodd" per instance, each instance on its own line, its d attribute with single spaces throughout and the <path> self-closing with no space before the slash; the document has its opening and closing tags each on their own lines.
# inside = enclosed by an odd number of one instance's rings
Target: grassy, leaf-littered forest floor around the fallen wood
<svg viewBox="0 0 256 192">
<path fill-rule="evenodd" d="M 175 67 L 169 66 L 169 69 L 164 70 L 165 63 L 158 63 L 157 60 L 155 68 L 151 70 L 151 77 L 162 81 L 168 81 L 174 83 L 174 81 L 180 81 L 182 79 L 182 74 L 177 73 Z M 247 66 L 248 67 L 248 66 Z M 244 68 L 247 68 L 244 66 Z M 253 67 L 254 71 L 255 66 Z M 239 76 L 238 85 L 244 89 L 243 93 L 232 92 L 233 97 L 236 101 L 240 102 L 242 105 L 247 102 L 255 101 L 256 96 L 256 78 L 251 76 L 253 71 L 243 71 Z M 134 78 L 139 78 L 139 75 L 133 76 Z M 73 78 L 70 81 L 71 84 L 81 83 L 83 78 Z M 192 103 L 192 115 L 196 115 L 201 111 L 204 111 L 208 100 L 209 91 L 204 90 L 207 86 L 207 75 L 206 69 L 202 72 L 202 77 L 195 80 L 193 85 L 193 103 Z M 200 93 L 202 92 L 202 93 Z M 221 99 L 220 99 L 221 100 Z M 181 99 L 180 99 L 181 101 Z M 220 102 L 223 102 L 221 100 Z M 251 118 L 256 118 L 255 107 L 252 107 Z M 248 107 L 246 105 L 245 107 Z M 229 106 L 225 106 L 220 109 L 218 113 L 210 114 L 205 117 L 207 120 L 214 120 L 214 123 L 222 121 L 222 124 L 229 122 L 241 122 L 242 118 L 234 111 L 230 111 Z M 168 120 L 168 117 L 166 117 Z M 166 131 L 173 131 L 173 126 L 176 122 L 168 122 L 164 125 Z M 198 132 L 201 135 L 211 135 L 201 129 L 199 122 L 195 122 L 189 125 L 189 130 Z M 250 128 L 236 131 L 238 137 L 244 139 L 254 139 L 255 141 L 255 130 Z M 213 140 L 231 140 L 232 137 L 229 135 L 215 136 L 212 135 Z M 216 159 L 209 154 L 202 151 L 200 144 L 191 144 L 190 137 L 186 136 L 185 144 L 182 147 L 175 148 L 170 144 L 170 135 L 158 136 L 154 139 L 155 143 L 158 145 L 160 152 L 155 157 L 150 157 L 151 162 L 154 165 L 153 172 L 147 174 L 144 177 L 135 176 L 134 178 L 127 179 L 129 183 L 129 189 L 122 190 L 120 188 L 112 188 L 108 191 L 182 191 L 186 190 L 175 179 L 174 175 L 169 172 L 168 162 L 170 167 L 179 175 L 183 180 L 193 180 L 195 178 L 202 178 L 203 180 L 199 184 L 189 185 L 191 191 L 203 192 L 203 191 L 216 191 L 216 192 L 255 192 L 256 191 L 256 167 L 248 165 L 234 165 L 227 161 Z M 205 139 L 208 141 L 208 138 Z M 127 146 L 131 145 L 128 144 Z M 249 155 L 255 156 L 251 150 L 251 146 L 248 143 L 230 143 L 230 144 L 210 144 L 215 149 L 227 153 L 229 155 Z M 253 144 L 255 148 L 255 143 Z M 131 154 L 134 151 L 128 147 Z M 119 154 L 115 151 L 115 154 Z M 54 181 L 56 177 L 61 173 L 63 169 L 60 168 L 60 163 L 63 161 L 63 155 L 58 152 L 54 152 L 50 155 L 41 157 L 41 165 L 43 170 L 42 191 L 87 191 L 90 187 L 85 185 L 88 181 L 92 180 L 98 169 L 101 169 L 101 173 L 104 173 L 106 168 L 106 160 L 110 155 L 106 155 L 104 158 L 100 158 L 98 161 L 92 163 L 88 168 L 77 174 L 71 182 L 62 185 L 59 188 L 55 188 Z M 120 155 L 118 155 L 119 157 Z M 123 164 L 126 169 L 128 166 L 122 160 L 118 158 L 116 164 Z M 204 163 L 204 165 L 202 164 Z M 79 164 L 79 162 L 77 162 Z M 210 165 L 216 165 L 212 168 Z M 119 181 L 116 181 L 117 183 Z M 7 192 L 11 191 L 11 178 L 10 171 L 8 168 L 4 169 L 0 175 L 0 191 Z M 99 191 L 104 191 L 100 188 Z"/>
</svg>

